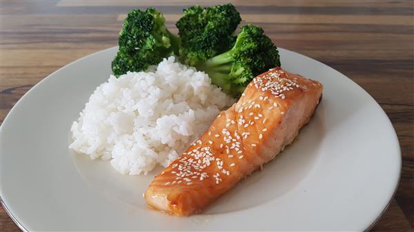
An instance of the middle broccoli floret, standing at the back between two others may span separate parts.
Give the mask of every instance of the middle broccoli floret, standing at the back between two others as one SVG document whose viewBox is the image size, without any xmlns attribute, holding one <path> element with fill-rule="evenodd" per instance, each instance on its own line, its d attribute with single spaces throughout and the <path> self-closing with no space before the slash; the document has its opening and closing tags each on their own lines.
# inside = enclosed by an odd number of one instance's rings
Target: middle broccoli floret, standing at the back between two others
<svg viewBox="0 0 414 232">
<path fill-rule="evenodd" d="M 181 39 L 180 61 L 195 66 L 229 50 L 235 42 L 234 32 L 240 21 L 239 12 L 230 3 L 186 8 L 176 23 Z"/>
</svg>

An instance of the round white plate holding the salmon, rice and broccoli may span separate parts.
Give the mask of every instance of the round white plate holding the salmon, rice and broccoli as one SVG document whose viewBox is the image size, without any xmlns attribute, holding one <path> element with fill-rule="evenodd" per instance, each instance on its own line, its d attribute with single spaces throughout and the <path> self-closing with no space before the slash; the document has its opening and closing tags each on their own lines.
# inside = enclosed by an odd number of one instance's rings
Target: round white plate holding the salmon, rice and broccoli
<svg viewBox="0 0 414 232">
<path fill-rule="evenodd" d="M 1 125 L 1 198 L 23 229 L 364 231 L 393 197 L 400 147 L 381 107 L 331 67 L 280 49 L 282 67 L 324 84 L 295 143 L 200 215 L 149 209 L 141 194 L 157 171 L 122 176 L 109 162 L 68 149 L 70 125 L 107 80 L 116 50 L 51 74 Z"/>
</svg>

